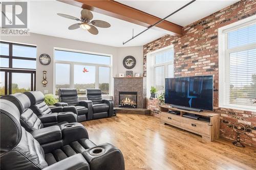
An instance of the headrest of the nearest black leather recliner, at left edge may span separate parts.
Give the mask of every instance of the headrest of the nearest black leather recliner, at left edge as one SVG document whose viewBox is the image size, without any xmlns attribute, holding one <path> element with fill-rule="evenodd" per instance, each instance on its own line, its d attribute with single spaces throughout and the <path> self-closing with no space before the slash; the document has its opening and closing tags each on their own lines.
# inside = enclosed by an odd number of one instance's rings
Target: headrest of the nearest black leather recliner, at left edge
<svg viewBox="0 0 256 170">
<path fill-rule="evenodd" d="M 16 147 L 22 137 L 19 110 L 14 103 L 0 99 L 0 147 L 1 155 Z"/>
</svg>

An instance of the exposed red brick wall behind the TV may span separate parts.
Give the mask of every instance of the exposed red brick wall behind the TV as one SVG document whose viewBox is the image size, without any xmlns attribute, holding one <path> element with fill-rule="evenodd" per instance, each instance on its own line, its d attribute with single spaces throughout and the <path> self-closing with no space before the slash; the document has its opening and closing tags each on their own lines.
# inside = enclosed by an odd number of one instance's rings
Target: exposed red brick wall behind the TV
<svg viewBox="0 0 256 170">
<path fill-rule="evenodd" d="M 214 111 L 221 115 L 221 136 L 235 139 L 236 133 L 227 122 L 245 124 L 250 130 L 241 135 L 241 140 L 256 147 L 256 112 L 218 107 L 218 28 L 256 14 L 256 1 L 240 1 L 183 28 L 184 36 L 166 35 L 144 45 L 144 76 L 146 76 L 146 54 L 174 44 L 175 77 L 214 75 Z"/>
</svg>

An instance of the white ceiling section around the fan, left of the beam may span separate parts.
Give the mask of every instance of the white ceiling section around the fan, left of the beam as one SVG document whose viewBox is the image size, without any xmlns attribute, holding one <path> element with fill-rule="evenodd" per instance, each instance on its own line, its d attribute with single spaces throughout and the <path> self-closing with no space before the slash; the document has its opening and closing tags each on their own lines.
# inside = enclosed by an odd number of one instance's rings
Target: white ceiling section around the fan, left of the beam
<svg viewBox="0 0 256 170">
<path fill-rule="evenodd" d="M 107 29 L 98 28 L 99 34 L 92 35 L 81 28 L 77 30 L 68 30 L 70 25 L 78 22 L 76 20 L 60 17 L 56 14 L 64 13 L 79 18 L 81 16 L 81 8 L 58 1 L 31 1 L 30 9 L 30 30 L 32 33 L 118 47 L 144 45 L 165 35 L 165 33 L 160 31 L 149 30 L 143 35 L 140 35 L 136 39 L 123 45 L 123 41 L 132 37 L 132 29 L 134 29 L 134 34 L 136 34 L 146 28 L 93 12 L 93 19 L 107 21 L 111 24 L 111 27 Z"/>
</svg>

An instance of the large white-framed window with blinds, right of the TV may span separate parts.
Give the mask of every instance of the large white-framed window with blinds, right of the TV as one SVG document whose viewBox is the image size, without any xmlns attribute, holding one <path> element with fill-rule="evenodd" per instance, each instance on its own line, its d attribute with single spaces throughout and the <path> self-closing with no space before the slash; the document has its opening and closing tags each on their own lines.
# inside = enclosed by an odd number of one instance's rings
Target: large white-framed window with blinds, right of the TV
<svg viewBox="0 0 256 170">
<path fill-rule="evenodd" d="M 219 29 L 220 107 L 256 111 L 256 20 L 249 19 Z"/>
</svg>

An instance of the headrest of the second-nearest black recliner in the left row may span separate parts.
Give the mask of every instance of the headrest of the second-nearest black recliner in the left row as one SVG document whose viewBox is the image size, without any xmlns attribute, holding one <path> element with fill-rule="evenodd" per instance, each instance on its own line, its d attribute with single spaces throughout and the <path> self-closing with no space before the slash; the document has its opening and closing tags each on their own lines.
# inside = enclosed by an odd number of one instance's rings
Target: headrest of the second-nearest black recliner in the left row
<svg viewBox="0 0 256 170">
<path fill-rule="evenodd" d="M 6 99 L 12 102 L 18 108 L 20 114 L 31 106 L 28 96 L 23 93 L 4 95 L 1 99 Z"/>
</svg>

